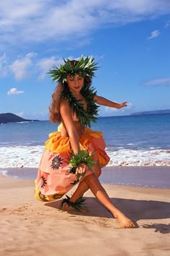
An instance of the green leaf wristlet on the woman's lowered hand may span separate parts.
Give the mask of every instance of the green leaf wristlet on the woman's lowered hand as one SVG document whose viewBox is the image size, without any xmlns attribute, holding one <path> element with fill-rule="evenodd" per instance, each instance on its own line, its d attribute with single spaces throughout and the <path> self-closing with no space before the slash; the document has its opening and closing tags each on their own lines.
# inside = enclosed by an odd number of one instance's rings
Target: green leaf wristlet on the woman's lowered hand
<svg viewBox="0 0 170 256">
<path fill-rule="evenodd" d="M 94 153 L 89 155 L 89 152 L 86 150 L 79 150 L 79 152 L 77 154 L 73 153 L 71 156 L 71 159 L 69 161 L 69 163 L 71 163 L 71 166 L 72 166 L 70 168 L 69 173 L 76 174 L 76 168 L 79 166 L 80 163 L 85 163 L 86 166 L 88 166 L 88 168 L 91 171 L 94 171 L 92 166 L 96 162 L 93 160 L 93 156 L 94 156 Z M 76 178 L 77 179 L 83 178 L 84 175 L 85 175 L 85 173 L 77 174 Z"/>
</svg>

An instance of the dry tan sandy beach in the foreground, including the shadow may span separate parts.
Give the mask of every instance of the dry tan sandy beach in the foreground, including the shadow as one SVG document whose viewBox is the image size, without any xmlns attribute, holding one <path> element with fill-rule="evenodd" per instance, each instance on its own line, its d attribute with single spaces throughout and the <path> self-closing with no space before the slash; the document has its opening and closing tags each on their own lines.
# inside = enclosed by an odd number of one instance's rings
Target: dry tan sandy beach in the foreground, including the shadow
<svg viewBox="0 0 170 256">
<path fill-rule="evenodd" d="M 66 213 L 61 200 L 36 201 L 33 180 L 0 178 L 1 256 L 170 255 L 170 189 L 104 184 L 117 208 L 137 223 L 121 229 L 90 191 L 87 213 Z"/>
</svg>

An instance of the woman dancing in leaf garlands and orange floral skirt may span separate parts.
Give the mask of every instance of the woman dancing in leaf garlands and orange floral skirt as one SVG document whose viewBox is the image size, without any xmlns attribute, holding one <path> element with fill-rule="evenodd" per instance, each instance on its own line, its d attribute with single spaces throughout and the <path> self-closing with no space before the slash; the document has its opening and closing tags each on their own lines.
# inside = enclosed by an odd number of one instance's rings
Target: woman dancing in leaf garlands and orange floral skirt
<svg viewBox="0 0 170 256">
<path fill-rule="evenodd" d="M 65 60 L 64 60 L 65 61 Z M 81 56 L 76 61 L 65 61 L 61 67 L 50 70 L 51 77 L 58 81 L 50 104 L 50 120 L 60 122 L 58 132 L 49 135 L 35 180 L 37 200 L 56 200 L 66 194 L 75 184 L 76 191 L 66 196 L 63 210 L 81 210 L 84 192 L 91 192 L 102 202 L 124 228 L 135 224 L 112 204 L 107 192 L 99 182 L 101 168 L 109 162 L 104 151 L 102 132 L 94 132 L 91 121 L 97 120 L 97 104 L 112 108 L 127 106 L 126 102 L 115 103 L 103 98 L 91 88 L 91 79 L 97 65 L 92 57 Z"/>
</svg>

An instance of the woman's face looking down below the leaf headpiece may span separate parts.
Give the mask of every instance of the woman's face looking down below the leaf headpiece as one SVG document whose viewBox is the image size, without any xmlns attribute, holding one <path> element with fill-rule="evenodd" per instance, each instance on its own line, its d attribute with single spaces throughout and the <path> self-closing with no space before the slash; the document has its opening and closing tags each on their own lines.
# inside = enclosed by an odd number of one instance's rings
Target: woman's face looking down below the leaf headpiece
<svg viewBox="0 0 170 256">
<path fill-rule="evenodd" d="M 79 93 L 84 86 L 84 77 L 81 77 L 79 74 L 76 74 L 75 77 L 67 75 L 66 79 L 68 87 L 73 93 Z"/>
</svg>

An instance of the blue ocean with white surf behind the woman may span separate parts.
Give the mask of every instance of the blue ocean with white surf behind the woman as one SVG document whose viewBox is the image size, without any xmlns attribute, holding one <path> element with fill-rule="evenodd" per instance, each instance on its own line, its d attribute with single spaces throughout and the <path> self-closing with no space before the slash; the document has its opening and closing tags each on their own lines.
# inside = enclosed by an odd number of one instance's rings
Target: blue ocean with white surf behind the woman
<svg viewBox="0 0 170 256">
<path fill-rule="evenodd" d="M 0 125 L 0 168 L 37 168 L 50 121 Z M 91 129 L 102 131 L 108 166 L 170 166 L 170 114 L 99 117 Z"/>
</svg>

